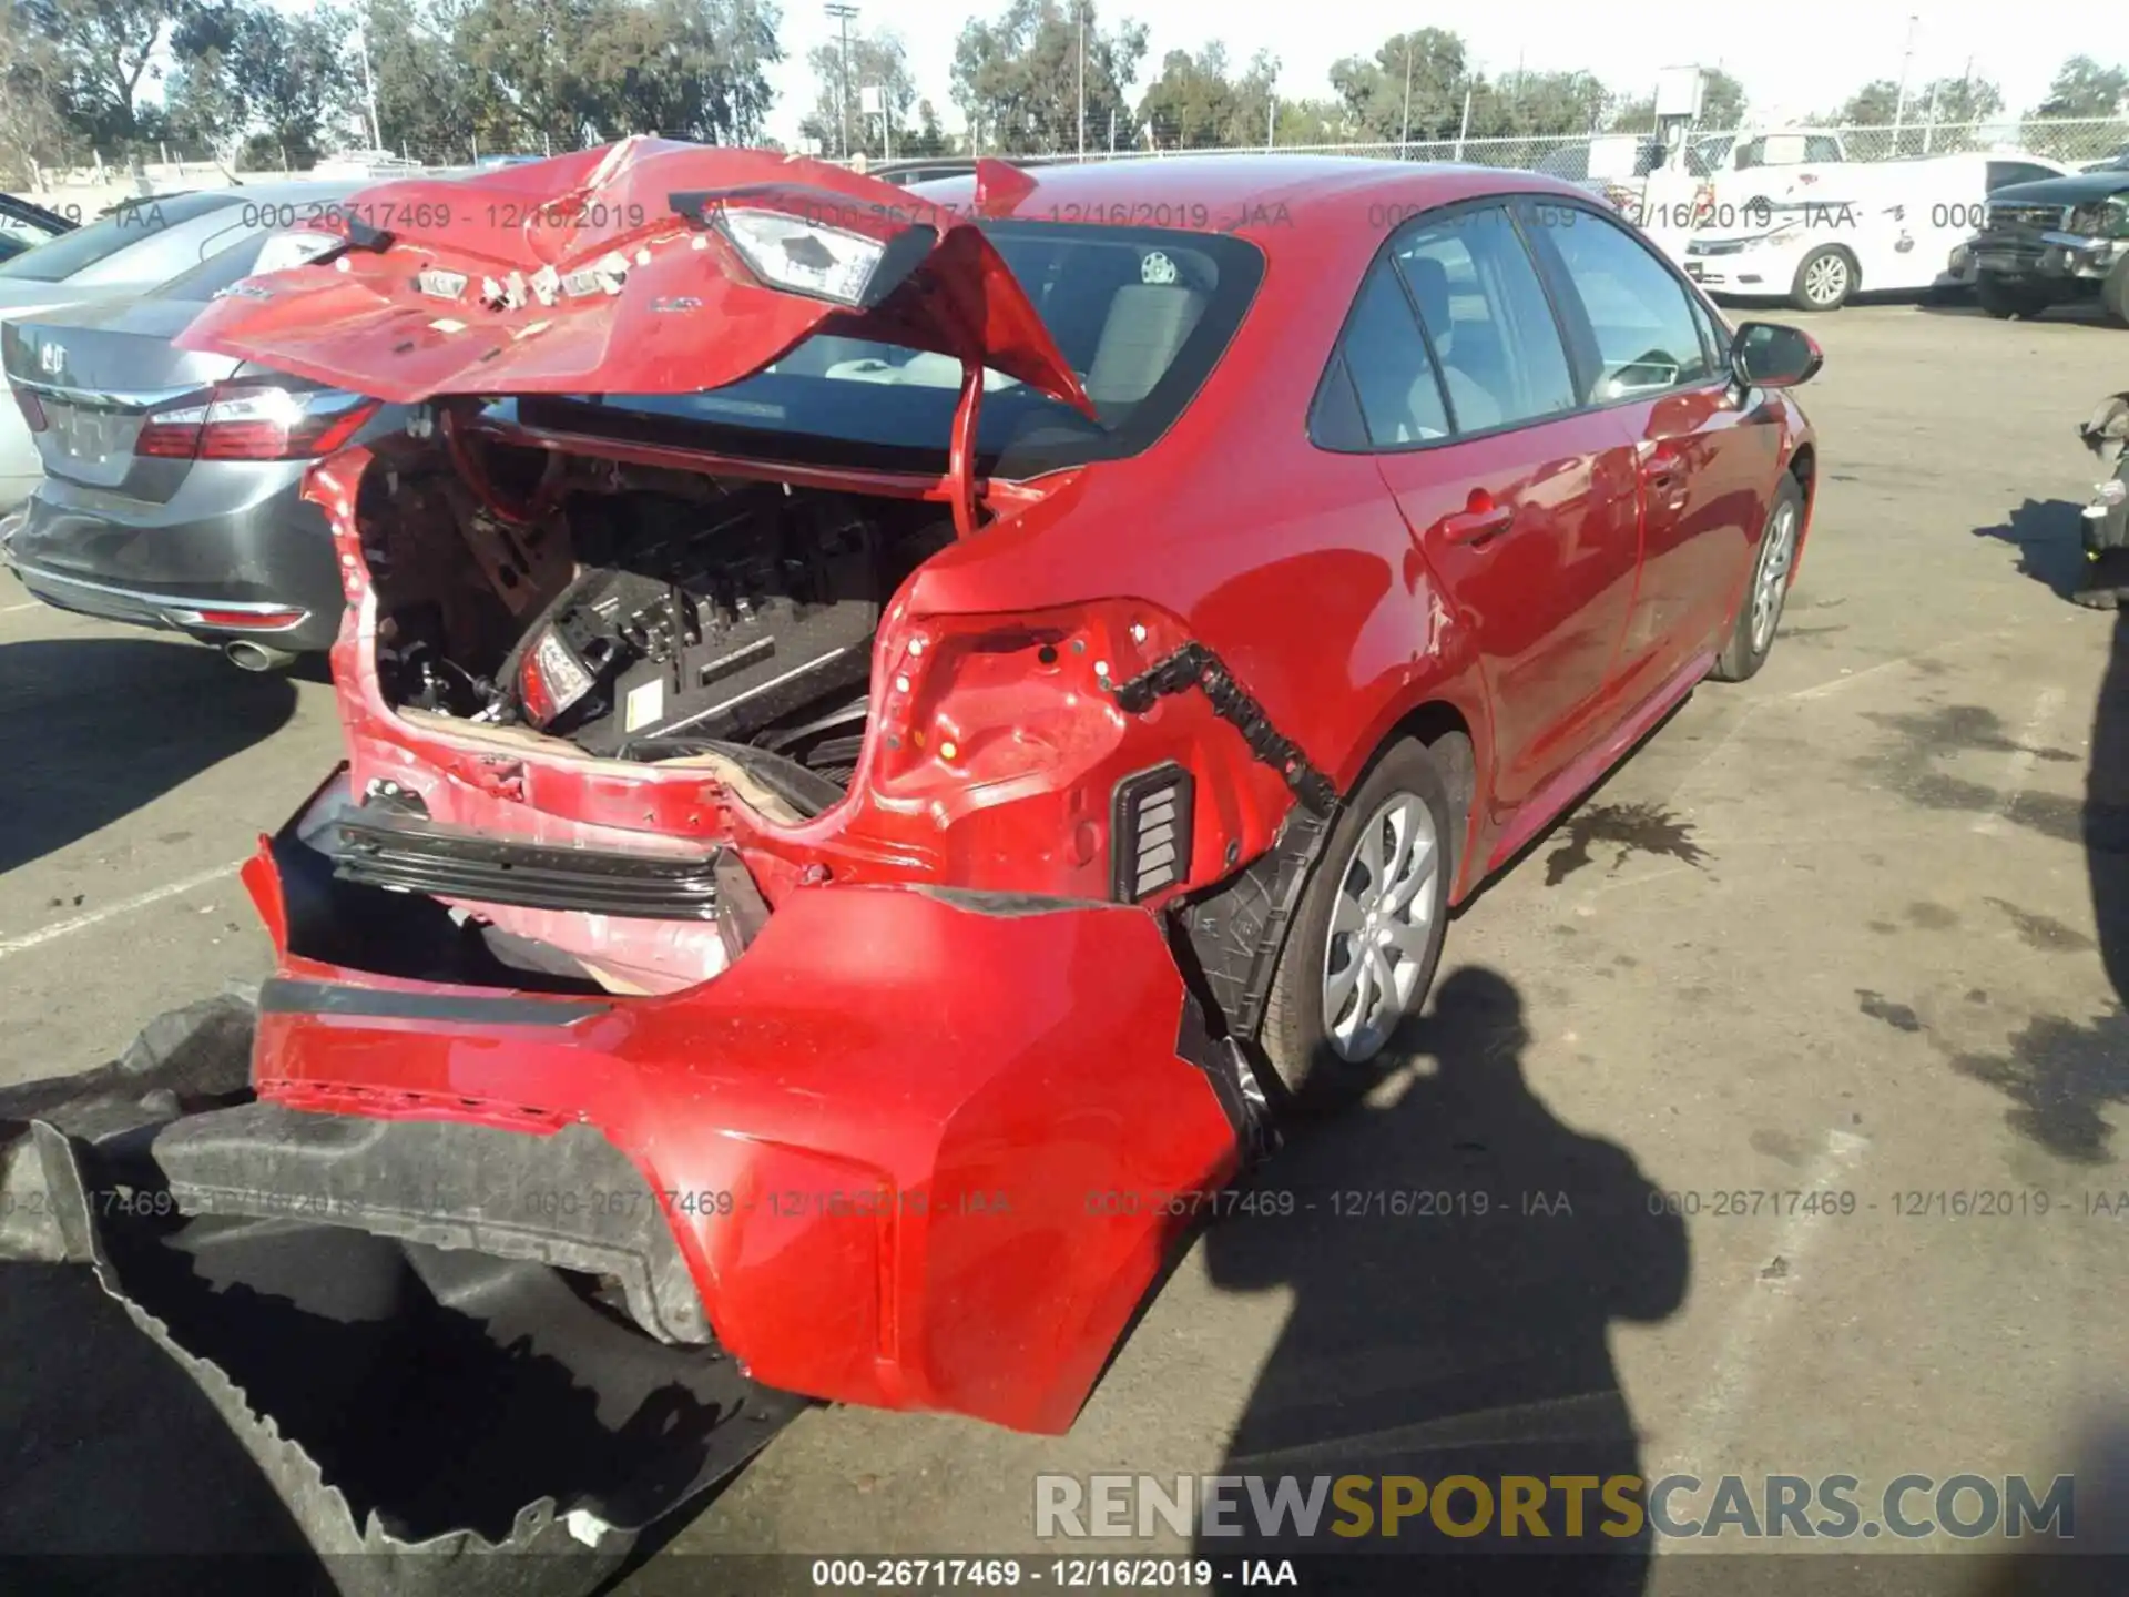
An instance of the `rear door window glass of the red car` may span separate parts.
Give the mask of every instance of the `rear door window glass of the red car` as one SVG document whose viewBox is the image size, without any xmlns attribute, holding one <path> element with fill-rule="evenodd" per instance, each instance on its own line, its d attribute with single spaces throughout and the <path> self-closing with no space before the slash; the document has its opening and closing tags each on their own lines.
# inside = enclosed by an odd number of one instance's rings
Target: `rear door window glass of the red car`
<svg viewBox="0 0 2129 1597">
<path fill-rule="evenodd" d="M 1390 253 L 1441 362 L 1456 432 L 1575 409 L 1558 322 L 1505 207 L 1418 226 Z"/>
</svg>

